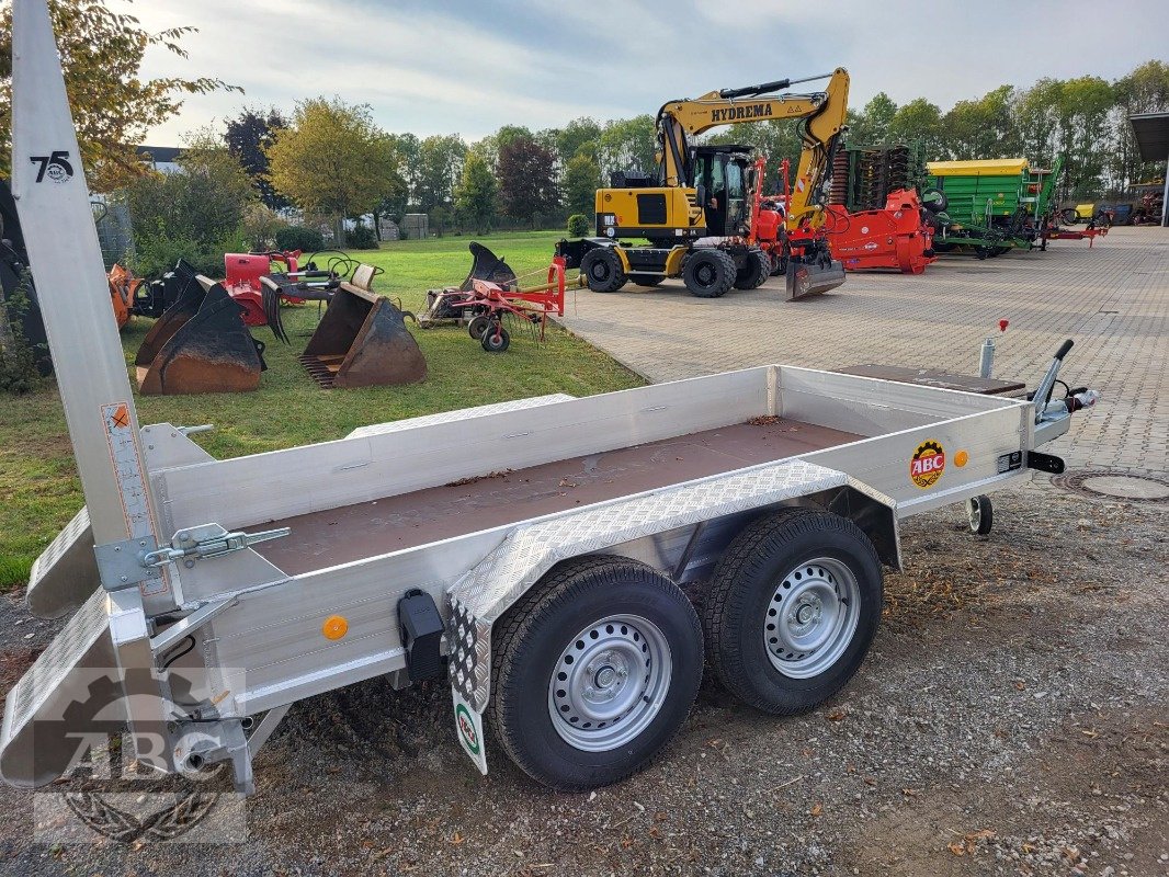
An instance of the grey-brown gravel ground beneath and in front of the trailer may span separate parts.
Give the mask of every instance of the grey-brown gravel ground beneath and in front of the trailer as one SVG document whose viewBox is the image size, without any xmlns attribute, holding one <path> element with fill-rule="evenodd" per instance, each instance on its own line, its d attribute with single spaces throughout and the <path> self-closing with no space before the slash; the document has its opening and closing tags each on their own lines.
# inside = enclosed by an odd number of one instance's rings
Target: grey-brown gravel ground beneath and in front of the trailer
<svg viewBox="0 0 1169 877">
<path fill-rule="evenodd" d="M 1169 875 L 1169 505 L 1037 479 L 995 518 L 989 537 L 953 509 L 905 525 L 883 630 L 837 698 L 776 719 L 708 681 L 617 786 L 547 792 L 490 732 L 480 779 L 444 684 L 374 681 L 289 713 L 245 843 L 37 844 L 32 794 L 4 788 L 0 872 Z M 2 602 L 8 668 L 54 626 Z"/>
</svg>

